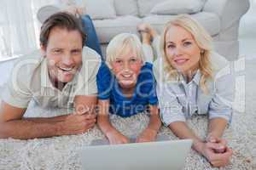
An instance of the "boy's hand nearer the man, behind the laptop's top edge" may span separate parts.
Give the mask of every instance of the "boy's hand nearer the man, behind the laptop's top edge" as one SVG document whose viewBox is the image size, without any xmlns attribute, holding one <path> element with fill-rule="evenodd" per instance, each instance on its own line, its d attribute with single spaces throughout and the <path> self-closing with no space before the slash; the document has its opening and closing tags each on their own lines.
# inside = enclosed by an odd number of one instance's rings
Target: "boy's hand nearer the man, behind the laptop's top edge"
<svg viewBox="0 0 256 170">
<path fill-rule="evenodd" d="M 117 130 L 112 130 L 107 134 L 110 144 L 128 144 L 130 140 L 125 137 L 122 133 L 119 133 Z"/>
</svg>

